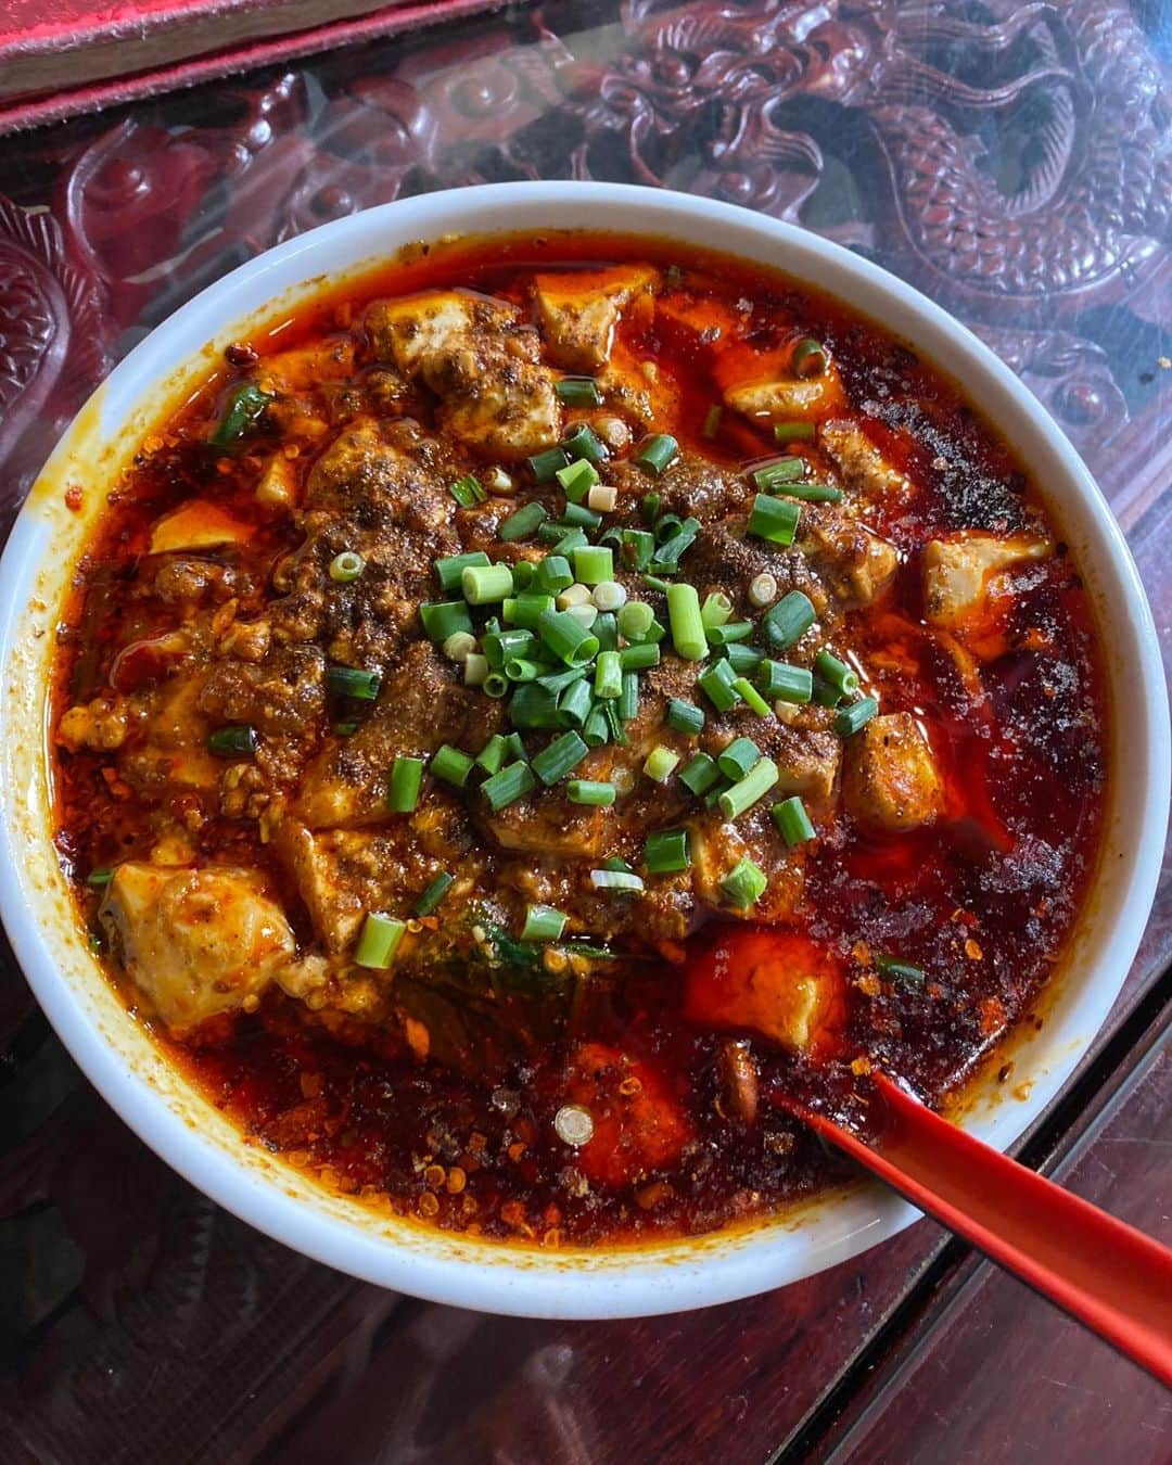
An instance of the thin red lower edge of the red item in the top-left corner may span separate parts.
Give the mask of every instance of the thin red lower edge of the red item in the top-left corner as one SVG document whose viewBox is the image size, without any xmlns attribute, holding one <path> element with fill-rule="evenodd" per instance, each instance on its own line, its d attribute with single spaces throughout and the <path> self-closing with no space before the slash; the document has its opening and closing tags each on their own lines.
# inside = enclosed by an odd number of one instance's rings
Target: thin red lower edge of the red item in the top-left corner
<svg viewBox="0 0 1172 1465">
<path fill-rule="evenodd" d="M 374 10 L 356 21 L 340 21 L 333 25 L 314 26 L 309 31 L 296 31 L 293 35 L 255 41 L 234 51 L 198 56 L 160 70 L 95 82 L 89 86 L 79 86 L 76 91 L 48 97 L 21 98 L 0 107 L 0 135 L 41 127 L 66 117 L 76 117 L 79 113 L 101 111 L 105 107 L 116 107 L 142 97 L 157 97 L 160 92 L 195 86 L 199 82 L 237 72 L 256 70 L 293 57 L 312 56 L 315 51 L 422 29 L 476 12 L 501 10 L 505 4 L 507 0 L 422 0 L 416 4 L 397 4 L 385 10 Z"/>
</svg>

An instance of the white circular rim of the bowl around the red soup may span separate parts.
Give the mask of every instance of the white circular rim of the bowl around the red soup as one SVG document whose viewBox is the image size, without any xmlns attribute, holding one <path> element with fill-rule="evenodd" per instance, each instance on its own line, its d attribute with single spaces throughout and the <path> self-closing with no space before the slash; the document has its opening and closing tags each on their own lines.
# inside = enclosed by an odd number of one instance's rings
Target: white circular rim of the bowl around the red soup
<svg viewBox="0 0 1172 1465">
<path fill-rule="evenodd" d="M 587 211 L 589 226 L 583 224 Z M 536 221 L 529 223 L 530 217 Z M 489 226 L 491 218 L 498 223 Z M 546 220 L 544 226 L 541 220 Z M 813 280 L 844 299 L 850 309 L 875 318 L 889 334 L 913 340 L 945 372 L 957 377 L 957 366 L 963 368 L 968 396 L 974 394 L 970 381 L 976 382 L 980 388 L 976 396 L 1001 401 L 1017 431 L 1026 434 L 1030 453 L 1027 442 L 1014 438 L 1020 456 L 1034 463 L 1040 457 L 1055 473 L 1055 482 L 1046 485 L 1046 497 L 1052 491 L 1059 497 L 1059 488 L 1062 495 L 1071 495 L 1069 504 L 1064 502 L 1064 527 L 1067 511 L 1077 510 L 1096 571 L 1102 571 L 1105 585 L 1109 582 L 1119 598 L 1118 607 L 1108 608 L 1112 624 L 1128 643 L 1125 650 L 1134 656 L 1135 675 L 1147 689 L 1163 686 L 1151 614 L 1122 532 L 1071 444 L 1012 372 L 941 306 L 878 265 L 795 226 L 670 190 L 571 182 L 483 185 L 384 204 L 277 245 L 204 289 L 114 368 L 63 435 L 38 485 L 53 482 L 69 453 L 92 435 L 95 420 L 100 434 L 110 440 L 130 420 L 132 407 L 144 400 L 148 384 L 158 382 L 160 374 L 189 368 L 198 355 L 190 349 L 192 340 L 201 335 L 204 343 L 217 335 L 224 338 L 234 322 L 271 318 L 281 297 L 278 284 L 292 287 L 302 281 L 302 289 L 335 272 L 349 278 L 360 274 L 363 262 L 369 264 L 379 252 L 385 255 L 413 240 L 438 239 L 453 231 L 478 236 L 541 227 L 589 227 L 659 237 L 675 233 L 693 245 L 772 264 L 798 281 Z M 779 258 L 771 259 L 774 253 Z M 338 255 L 344 256 L 340 271 L 331 262 Z M 826 284 L 828 278 L 834 284 Z M 857 303 L 860 294 L 879 302 L 883 314 Z M 245 300 L 253 303 L 240 309 Z M 924 338 L 938 349 L 924 347 Z M 125 403 L 123 410 L 111 407 L 119 401 Z M 1002 425 L 998 413 L 984 409 L 983 403 L 982 407 L 998 426 Z M 107 422 L 111 412 L 114 420 Z M 15 667 L 29 605 L 41 583 L 38 571 L 51 560 L 51 535 L 35 507 L 38 485 L 0 561 L 0 667 L 4 670 L 0 756 L 7 756 L 9 744 L 19 741 L 19 719 L 28 724 L 28 708 L 18 705 L 15 694 L 19 687 Z M 50 611 L 54 608 L 50 605 Z M 1113 702 L 1118 706 L 1118 696 Z M 1128 769 L 1132 776 L 1138 775 L 1147 795 L 1131 810 L 1125 841 L 1121 837 L 1119 858 L 1128 869 L 1116 876 L 1115 905 L 1106 916 L 1094 913 L 1096 927 L 1103 921 L 1106 926 L 1091 938 L 1088 921 L 1086 941 L 1093 939 L 1100 948 L 1096 964 L 1069 993 L 1064 992 L 1064 1001 L 1071 998 L 1069 1012 L 1062 1020 L 1062 1030 L 1069 1030 L 1065 1046 L 1050 1053 L 1033 1077 L 1028 1097 L 1015 1108 L 990 1103 L 987 1112 L 964 1121 L 1001 1149 L 1058 1093 L 1105 1021 L 1154 898 L 1172 762 L 1168 706 L 1162 696 L 1140 699 L 1138 716 L 1128 735 Z M 1119 756 L 1116 747 L 1112 784 L 1119 782 Z M 28 765 L 19 759 L 6 765 L 6 774 L 12 768 L 28 774 Z M 290 1188 L 292 1176 L 284 1166 L 265 1171 L 246 1163 L 202 1122 L 177 1112 L 167 1094 L 160 1096 L 158 1071 L 138 1072 L 120 1061 L 117 1034 L 111 1036 L 108 1027 L 95 1023 L 76 974 L 59 970 L 63 943 L 67 946 L 72 941 L 79 946 L 81 936 L 76 924 L 70 932 L 62 929 L 60 910 L 54 916 L 42 892 L 26 879 L 25 841 L 29 828 L 38 828 L 37 815 L 34 812 L 29 825 L 28 791 L 15 788 L 10 776 L 3 785 L 0 917 L 34 993 L 66 1047 L 123 1121 L 173 1169 L 218 1204 L 306 1256 L 382 1286 L 486 1311 L 580 1318 L 650 1316 L 732 1301 L 810 1276 L 895 1235 L 920 1214 L 889 1193 L 866 1185 L 856 1198 L 831 1195 L 788 1220 L 747 1231 L 646 1248 L 538 1254 L 492 1242 L 466 1245 L 444 1232 L 423 1234 L 423 1228 L 410 1222 L 384 1226 L 369 1213 L 356 1222 L 352 1214 L 338 1213 L 338 1207 L 318 1204 L 314 1191 Z M 40 837 L 51 848 L 47 828 L 40 829 Z M 1103 839 L 1106 847 L 1106 831 Z M 92 960 L 86 960 L 97 970 Z M 133 1020 L 126 1017 L 126 1021 Z"/>
</svg>

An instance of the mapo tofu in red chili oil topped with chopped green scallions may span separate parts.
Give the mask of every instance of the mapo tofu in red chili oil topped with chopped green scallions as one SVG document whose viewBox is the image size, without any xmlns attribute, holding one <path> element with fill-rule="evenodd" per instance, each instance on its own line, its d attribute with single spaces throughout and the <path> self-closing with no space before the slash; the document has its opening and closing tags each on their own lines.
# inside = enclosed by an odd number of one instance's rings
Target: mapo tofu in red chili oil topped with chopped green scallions
<svg viewBox="0 0 1172 1465">
<path fill-rule="evenodd" d="M 803 1105 L 942 1103 L 1042 1021 L 1106 727 L 1040 491 L 781 274 L 419 246 L 107 491 L 51 724 L 92 949 L 242 1143 L 372 1206 L 775 1213 L 844 1173 Z"/>
</svg>

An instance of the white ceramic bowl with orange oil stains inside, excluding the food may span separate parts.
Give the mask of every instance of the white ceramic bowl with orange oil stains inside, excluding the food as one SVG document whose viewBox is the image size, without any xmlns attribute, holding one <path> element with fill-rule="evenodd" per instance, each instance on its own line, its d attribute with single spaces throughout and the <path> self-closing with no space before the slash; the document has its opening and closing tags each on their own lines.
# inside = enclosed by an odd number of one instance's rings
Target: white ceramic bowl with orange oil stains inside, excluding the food
<svg viewBox="0 0 1172 1465">
<path fill-rule="evenodd" d="M 624 1317 L 703 1307 L 809 1276 L 894 1235 L 916 1212 L 878 1185 L 825 1197 L 727 1235 L 609 1251 L 542 1253 L 388 1220 L 324 1194 L 246 1147 L 170 1068 L 89 957 L 51 842 L 45 686 L 54 626 L 103 486 L 160 413 L 256 321 L 400 246 L 444 234 L 608 229 L 680 239 L 785 270 L 882 322 L 964 382 L 1042 486 L 1110 646 L 1109 816 L 1093 895 L 1055 977 L 1042 1031 L 1015 1040 L 1009 1099 L 979 1081 L 965 1125 L 1009 1144 L 1058 1093 L 1108 1014 L 1156 888 L 1168 813 L 1169 732 L 1150 611 L 1122 535 L 1047 413 L 976 337 L 930 300 L 816 234 L 681 193 L 607 183 L 516 183 L 388 204 L 293 239 L 204 290 L 138 346 L 82 409 L 21 514 L 0 567 L 0 913 L 73 1058 L 122 1118 L 193 1185 L 261 1231 L 343 1272 L 498 1313 Z M 64 489 L 84 491 L 81 511 Z M 1127 775 L 1124 776 L 1124 769 Z"/>
</svg>

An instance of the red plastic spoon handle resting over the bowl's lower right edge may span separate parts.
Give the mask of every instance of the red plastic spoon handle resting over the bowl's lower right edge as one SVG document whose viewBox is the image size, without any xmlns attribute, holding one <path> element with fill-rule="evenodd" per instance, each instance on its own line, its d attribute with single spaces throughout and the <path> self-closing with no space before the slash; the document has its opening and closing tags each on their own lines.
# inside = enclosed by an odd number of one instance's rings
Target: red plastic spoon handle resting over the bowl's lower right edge
<svg viewBox="0 0 1172 1465">
<path fill-rule="evenodd" d="M 863 1141 L 801 1118 L 1091 1332 L 1172 1386 L 1172 1250 L 941 1119 L 875 1075 L 885 1113 Z"/>
</svg>

